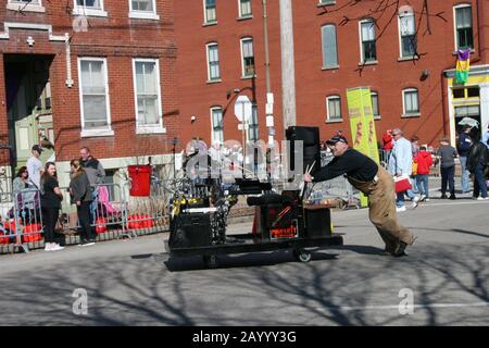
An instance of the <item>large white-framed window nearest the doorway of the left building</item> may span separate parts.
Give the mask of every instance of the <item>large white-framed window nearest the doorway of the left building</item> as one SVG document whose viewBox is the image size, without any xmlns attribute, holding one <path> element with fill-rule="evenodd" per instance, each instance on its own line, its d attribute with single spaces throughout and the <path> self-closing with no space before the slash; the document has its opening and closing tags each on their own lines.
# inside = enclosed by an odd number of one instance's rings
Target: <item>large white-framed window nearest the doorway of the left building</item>
<svg viewBox="0 0 489 348">
<path fill-rule="evenodd" d="M 78 72 L 82 133 L 85 130 L 111 130 L 106 60 L 80 58 Z"/>
</svg>

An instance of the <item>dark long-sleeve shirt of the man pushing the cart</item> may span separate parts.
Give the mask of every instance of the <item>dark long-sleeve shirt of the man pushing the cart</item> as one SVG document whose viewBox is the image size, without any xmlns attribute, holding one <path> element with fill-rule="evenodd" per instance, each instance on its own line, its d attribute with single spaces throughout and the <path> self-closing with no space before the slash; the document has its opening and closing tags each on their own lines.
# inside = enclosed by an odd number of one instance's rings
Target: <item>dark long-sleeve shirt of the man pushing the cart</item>
<svg viewBox="0 0 489 348">
<path fill-rule="evenodd" d="M 328 181 L 342 174 L 361 182 L 369 182 L 377 175 L 377 163 L 350 148 L 342 156 L 335 157 L 326 166 L 314 173 L 314 182 Z"/>
</svg>

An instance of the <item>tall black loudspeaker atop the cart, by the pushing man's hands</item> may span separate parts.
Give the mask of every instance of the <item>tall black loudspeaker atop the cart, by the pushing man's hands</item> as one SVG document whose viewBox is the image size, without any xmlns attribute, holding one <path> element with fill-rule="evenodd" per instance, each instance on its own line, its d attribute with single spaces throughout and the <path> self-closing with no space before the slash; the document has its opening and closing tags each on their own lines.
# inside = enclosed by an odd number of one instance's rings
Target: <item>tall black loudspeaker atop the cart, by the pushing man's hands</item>
<svg viewBox="0 0 489 348">
<path fill-rule="evenodd" d="M 321 167 L 321 146 L 319 146 L 319 128 L 318 127 L 301 127 L 291 126 L 286 130 L 287 140 L 290 141 L 289 147 L 289 167 L 294 171 L 296 166 L 296 141 L 302 140 L 303 144 L 303 172 L 308 166 L 311 166 L 314 162 L 314 167 L 311 174 Z"/>
</svg>

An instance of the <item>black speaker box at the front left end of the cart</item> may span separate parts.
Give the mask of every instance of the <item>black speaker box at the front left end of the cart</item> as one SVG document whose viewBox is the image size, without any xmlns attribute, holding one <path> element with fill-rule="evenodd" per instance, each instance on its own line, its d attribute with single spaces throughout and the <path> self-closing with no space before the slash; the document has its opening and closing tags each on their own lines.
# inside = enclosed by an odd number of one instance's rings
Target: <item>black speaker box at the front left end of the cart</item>
<svg viewBox="0 0 489 348">
<path fill-rule="evenodd" d="M 176 217 L 170 234 L 171 248 L 211 246 L 211 216 L 206 213 L 181 213 Z"/>
</svg>

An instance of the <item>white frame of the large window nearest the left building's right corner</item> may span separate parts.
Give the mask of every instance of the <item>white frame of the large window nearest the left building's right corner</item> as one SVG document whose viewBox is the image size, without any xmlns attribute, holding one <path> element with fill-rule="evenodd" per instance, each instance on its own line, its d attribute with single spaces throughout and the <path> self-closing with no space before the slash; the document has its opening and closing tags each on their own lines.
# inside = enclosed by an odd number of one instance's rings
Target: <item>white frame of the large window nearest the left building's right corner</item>
<svg viewBox="0 0 489 348">
<path fill-rule="evenodd" d="M 158 94 L 158 125 L 139 125 L 138 120 L 138 86 L 136 80 L 136 63 L 155 63 L 156 74 L 156 94 Z M 166 133 L 166 128 L 163 127 L 163 107 L 161 97 L 161 82 L 160 82 L 160 60 L 150 58 L 133 58 L 133 84 L 134 84 L 134 104 L 135 104 L 135 120 L 136 120 L 136 134 L 163 134 Z"/>
</svg>

